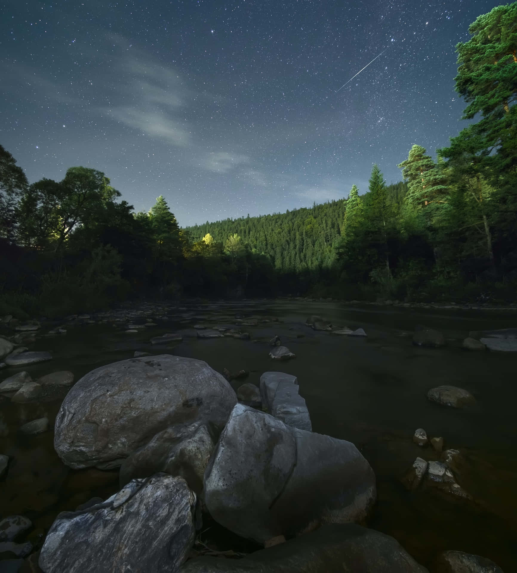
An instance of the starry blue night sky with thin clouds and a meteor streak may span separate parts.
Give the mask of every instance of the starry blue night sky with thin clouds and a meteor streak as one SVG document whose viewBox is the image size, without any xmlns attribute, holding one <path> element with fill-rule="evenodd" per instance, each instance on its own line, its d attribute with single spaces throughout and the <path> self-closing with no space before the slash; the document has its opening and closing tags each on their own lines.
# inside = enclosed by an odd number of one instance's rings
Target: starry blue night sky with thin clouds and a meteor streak
<svg viewBox="0 0 517 573">
<path fill-rule="evenodd" d="M 466 127 L 455 46 L 500 4 L 5 1 L 0 144 L 29 182 L 95 168 L 181 226 L 401 180 Z"/>
</svg>

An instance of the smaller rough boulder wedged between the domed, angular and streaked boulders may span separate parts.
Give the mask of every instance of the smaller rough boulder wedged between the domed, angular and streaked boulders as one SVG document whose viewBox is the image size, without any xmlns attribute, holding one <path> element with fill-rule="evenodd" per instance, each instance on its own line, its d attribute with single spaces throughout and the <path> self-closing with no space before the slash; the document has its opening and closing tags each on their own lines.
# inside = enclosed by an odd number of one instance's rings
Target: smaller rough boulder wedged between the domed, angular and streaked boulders
<svg viewBox="0 0 517 573">
<path fill-rule="evenodd" d="M 214 444 L 214 439 L 202 422 L 160 431 L 148 444 L 123 461 L 120 466 L 120 487 L 134 478 L 164 472 L 170 476 L 181 476 L 191 490 L 200 493 L 203 473 Z"/>
</svg>

